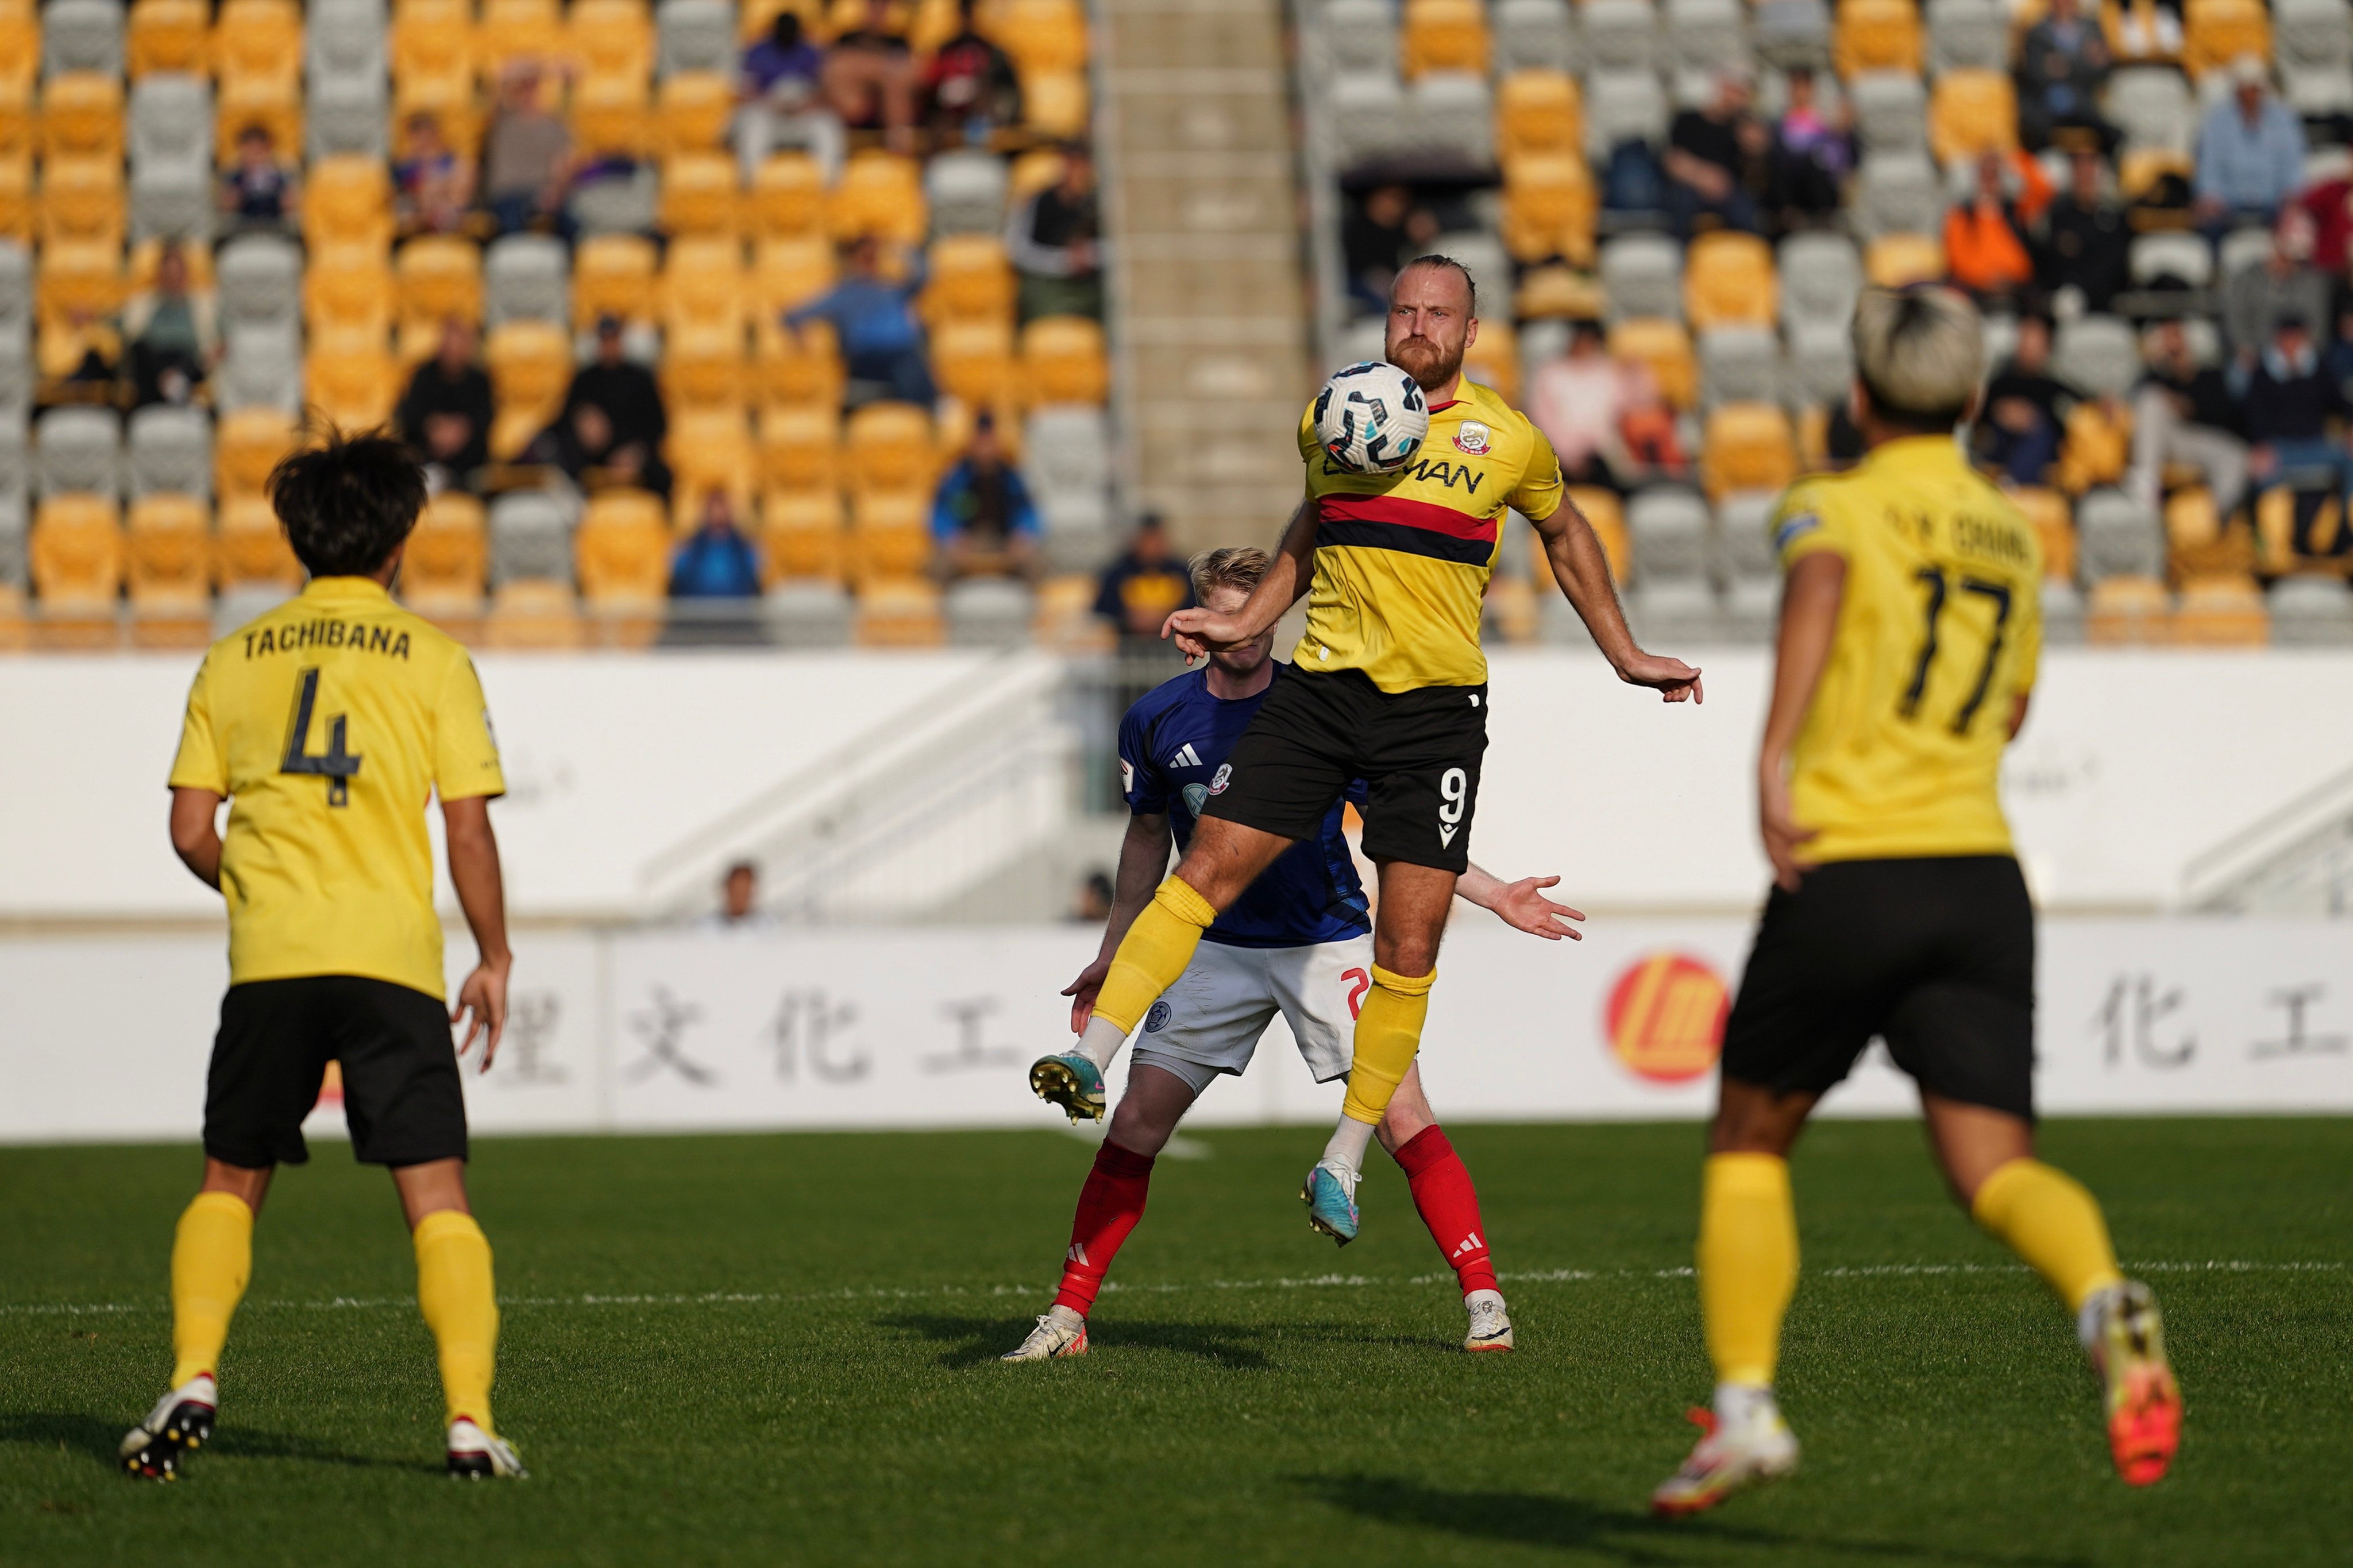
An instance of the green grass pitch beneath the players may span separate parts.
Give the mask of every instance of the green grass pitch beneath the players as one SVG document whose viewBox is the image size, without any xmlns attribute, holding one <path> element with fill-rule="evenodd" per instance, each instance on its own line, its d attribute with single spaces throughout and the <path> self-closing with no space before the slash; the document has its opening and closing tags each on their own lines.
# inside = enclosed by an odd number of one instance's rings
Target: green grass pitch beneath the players
<svg viewBox="0 0 2353 1568">
<path fill-rule="evenodd" d="M 0 1561 L 2073 1563 L 2353 1561 L 2353 1121 L 2054 1121 L 2165 1302 L 2188 1436 L 2122 1488 L 2042 1286 L 1908 1124 L 1795 1164 L 1791 1483 L 1645 1495 L 1708 1371 L 1689 1126 L 1459 1126 L 1520 1349 L 1466 1356 L 1452 1274 L 1374 1154 L 1367 1237 L 1308 1234 L 1313 1128 L 1200 1131 L 1094 1314 L 1045 1309 L 1089 1152 L 1061 1133 L 482 1140 L 522 1483 L 440 1474 L 391 1185 L 285 1171 L 172 1486 L 113 1469 L 169 1371 L 184 1147 L 5 1150 Z M 2209 1267 L 2212 1265 L 2212 1267 Z"/>
</svg>

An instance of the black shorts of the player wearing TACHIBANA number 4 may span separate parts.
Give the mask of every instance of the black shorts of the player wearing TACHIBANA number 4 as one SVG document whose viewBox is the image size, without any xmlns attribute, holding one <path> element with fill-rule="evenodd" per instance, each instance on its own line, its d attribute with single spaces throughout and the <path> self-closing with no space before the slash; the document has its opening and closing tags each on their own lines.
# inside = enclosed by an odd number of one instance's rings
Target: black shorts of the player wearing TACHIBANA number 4
<svg viewBox="0 0 2353 1568">
<path fill-rule="evenodd" d="M 344 1063 L 344 1121 L 362 1164 L 466 1159 L 449 1011 L 440 997 L 365 976 L 228 987 L 205 1081 L 205 1154 L 254 1168 L 311 1159 L 301 1121 L 327 1063 Z"/>
</svg>

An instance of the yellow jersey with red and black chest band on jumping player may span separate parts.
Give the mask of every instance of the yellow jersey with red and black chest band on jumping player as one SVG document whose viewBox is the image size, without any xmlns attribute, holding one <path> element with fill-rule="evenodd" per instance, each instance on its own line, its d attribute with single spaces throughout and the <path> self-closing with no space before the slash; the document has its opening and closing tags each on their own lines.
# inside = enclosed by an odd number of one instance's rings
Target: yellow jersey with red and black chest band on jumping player
<svg viewBox="0 0 2353 1568">
<path fill-rule="evenodd" d="M 1362 670 L 1381 691 L 1478 686 L 1478 623 L 1506 508 L 1544 522 L 1560 508 L 1560 458 L 1508 402 L 1464 378 L 1431 404 L 1421 454 L 1398 473 L 1348 473 L 1299 418 L 1315 508 L 1315 583 L 1301 670 Z"/>
</svg>

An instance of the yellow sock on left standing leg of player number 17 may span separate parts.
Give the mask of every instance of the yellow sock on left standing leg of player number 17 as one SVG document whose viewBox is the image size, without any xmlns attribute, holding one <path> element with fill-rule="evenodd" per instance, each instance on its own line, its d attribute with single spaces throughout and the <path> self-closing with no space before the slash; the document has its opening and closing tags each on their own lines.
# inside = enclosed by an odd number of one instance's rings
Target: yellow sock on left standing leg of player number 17
<svg viewBox="0 0 2353 1568">
<path fill-rule="evenodd" d="M 1708 1154 L 1699 1178 L 1699 1316 L 1718 1382 L 1772 1387 L 1798 1288 L 1798 1206 L 1779 1154 Z"/>
</svg>

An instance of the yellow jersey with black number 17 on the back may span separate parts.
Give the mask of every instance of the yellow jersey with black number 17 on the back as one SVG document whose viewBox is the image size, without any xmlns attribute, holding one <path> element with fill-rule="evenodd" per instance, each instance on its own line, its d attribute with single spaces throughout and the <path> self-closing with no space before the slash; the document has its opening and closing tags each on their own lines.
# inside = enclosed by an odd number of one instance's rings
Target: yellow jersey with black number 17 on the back
<svg viewBox="0 0 2353 1568">
<path fill-rule="evenodd" d="M 2009 853 L 2000 766 L 2042 654 L 2042 545 L 1948 435 L 1800 480 L 1784 567 L 1847 562 L 1838 635 L 1791 755 L 1812 860 Z"/>
</svg>

